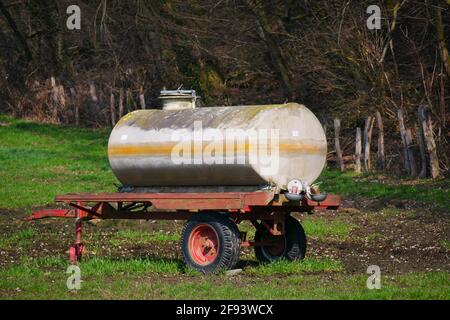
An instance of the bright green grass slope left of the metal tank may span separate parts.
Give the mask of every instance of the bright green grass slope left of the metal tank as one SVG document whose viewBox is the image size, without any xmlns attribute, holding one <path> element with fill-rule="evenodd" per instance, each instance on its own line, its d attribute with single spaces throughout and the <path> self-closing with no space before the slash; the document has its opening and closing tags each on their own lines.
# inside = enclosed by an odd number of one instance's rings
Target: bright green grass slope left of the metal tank
<svg viewBox="0 0 450 320">
<path fill-rule="evenodd" d="M 113 191 L 109 130 L 36 124 L 0 115 L 0 207 L 53 204 L 56 194 Z"/>
</svg>

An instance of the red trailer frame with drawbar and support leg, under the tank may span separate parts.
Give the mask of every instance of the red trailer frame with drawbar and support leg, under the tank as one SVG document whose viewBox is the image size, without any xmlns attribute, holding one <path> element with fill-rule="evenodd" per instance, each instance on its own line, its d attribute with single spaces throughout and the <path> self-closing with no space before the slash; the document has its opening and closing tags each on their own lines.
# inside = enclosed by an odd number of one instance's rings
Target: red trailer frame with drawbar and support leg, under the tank
<svg viewBox="0 0 450 320">
<path fill-rule="evenodd" d="M 98 193 L 58 195 L 55 202 L 69 209 L 45 209 L 34 212 L 27 220 L 74 218 L 75 242 L 70 247 L 70 260 L 77 263 L 83 254 L 82 223 L 93 219 L 189 220 L 201 212 L 227 214 L 236 224 L 249 220 L 257 229 L 282 236 L 286 219 L 292 212 L 337 210 L 340 197 L 329 194 L 316 202 L 308 197 L 289 201 L 274 190 L 212 193 Z M 248 241 L 241 233 L 240 246 L 265 246 L 270 241 Z"/>
</svg>

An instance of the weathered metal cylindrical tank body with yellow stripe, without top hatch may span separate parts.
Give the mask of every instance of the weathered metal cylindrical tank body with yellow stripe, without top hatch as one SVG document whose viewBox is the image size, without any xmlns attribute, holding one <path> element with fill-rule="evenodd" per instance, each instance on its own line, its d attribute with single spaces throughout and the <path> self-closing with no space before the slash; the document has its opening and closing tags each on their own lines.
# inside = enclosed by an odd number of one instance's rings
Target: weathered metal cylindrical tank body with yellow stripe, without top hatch
<svg viewBox="0 0 450 320">
<path fill-rule="evenodd" d="M 124 185 L 311 184 L 326 161 L 319 120 L 297 103 L 138 110 L 111 132 L 108 157 Z"/>
</svg>

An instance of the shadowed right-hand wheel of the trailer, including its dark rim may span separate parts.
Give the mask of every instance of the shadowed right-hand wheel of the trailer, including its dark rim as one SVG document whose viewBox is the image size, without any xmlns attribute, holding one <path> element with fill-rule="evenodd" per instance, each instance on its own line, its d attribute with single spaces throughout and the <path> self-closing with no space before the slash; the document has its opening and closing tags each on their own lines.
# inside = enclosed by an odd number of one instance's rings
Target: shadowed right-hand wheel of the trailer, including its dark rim
<svg viewBox="0 0 450 320">
<path fill-rule="evenodd" d="M 305 258 L 305 230 L 298 220 L 291 216 L 286 219 L 285 234 L 282 236 L 273 236 L 266 229 L 257 230 L 255 242 L 265 241 L 272 242 L 272 244 L 255 246 L 256 258 L 261 262 L 272 262 L 279 259 L 293 261 Z"/>
</svg>

